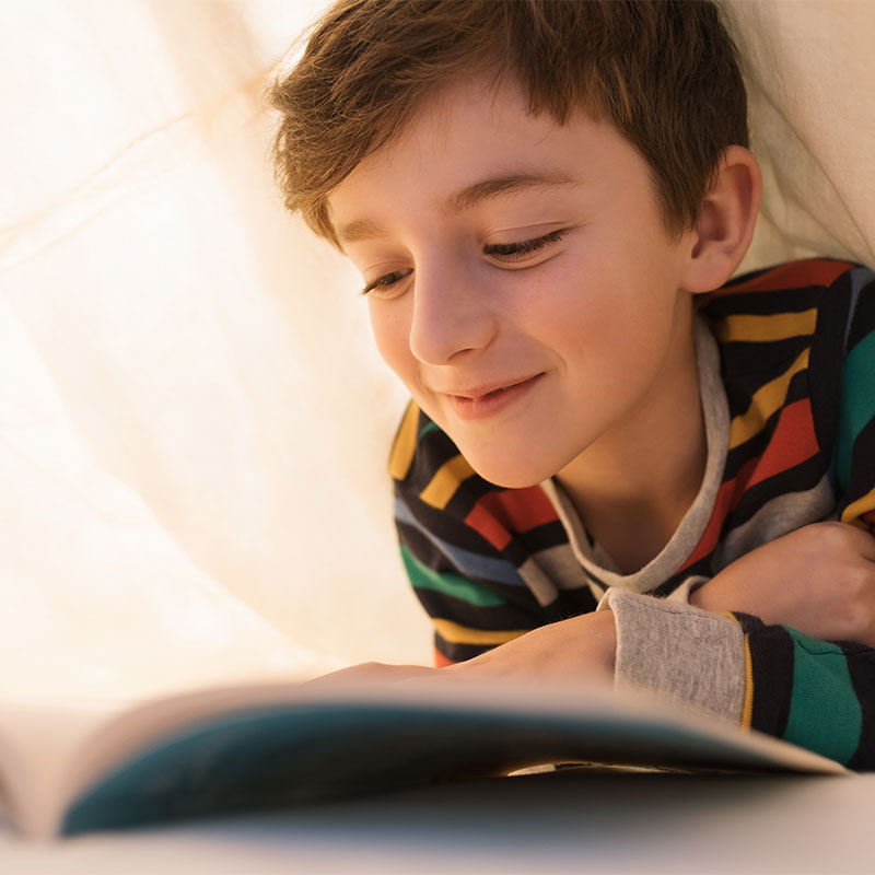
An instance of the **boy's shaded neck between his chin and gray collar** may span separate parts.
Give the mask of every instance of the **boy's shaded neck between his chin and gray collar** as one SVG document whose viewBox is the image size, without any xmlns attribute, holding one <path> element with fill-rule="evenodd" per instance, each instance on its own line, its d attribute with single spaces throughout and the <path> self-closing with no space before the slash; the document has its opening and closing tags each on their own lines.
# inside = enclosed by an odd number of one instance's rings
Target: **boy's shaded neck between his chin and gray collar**
<svg viewBox="0 0 875 875">
<path fill-rule="evenodd" d="M 642 442 L 641 435 L 646 435 Z M 663 374 L 623 422 L 587 447 L 557 479 L 584 526 L 630 574 L 676 532 L 704 476 L 704 417 L 692 330 L 674 345 Z"/>
</svg>

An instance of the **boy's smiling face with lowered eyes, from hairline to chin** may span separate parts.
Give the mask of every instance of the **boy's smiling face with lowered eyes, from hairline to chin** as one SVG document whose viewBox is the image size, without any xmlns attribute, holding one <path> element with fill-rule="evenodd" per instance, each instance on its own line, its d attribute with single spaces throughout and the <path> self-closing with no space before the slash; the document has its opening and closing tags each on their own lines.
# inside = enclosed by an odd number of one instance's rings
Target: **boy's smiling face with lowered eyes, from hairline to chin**
<svg viewBox="0 0 875 875">
<path fill-rule="evenodd" d="M 695 235 L 669 237 L 612 127 L 460 84 L 329 207 L 383 358 L 485 479 L 530 486 L 670 421 L 695 373 Z"/>
</svg>

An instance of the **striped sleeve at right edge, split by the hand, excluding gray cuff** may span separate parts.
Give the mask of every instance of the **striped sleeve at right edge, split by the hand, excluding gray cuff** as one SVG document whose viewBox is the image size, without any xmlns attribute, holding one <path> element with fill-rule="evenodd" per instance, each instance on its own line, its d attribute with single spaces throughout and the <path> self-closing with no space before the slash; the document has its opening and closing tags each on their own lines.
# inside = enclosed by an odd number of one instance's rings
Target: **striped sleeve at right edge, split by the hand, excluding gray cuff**
<svg viewBox="0 0 875 875">
<path fill-rule="evenodd" d="M 844 523 L 875 530 L 875 273 L 850 272 L 832 471 Z M 852 769 L 875 769 L 875 651 L 735 615 L 749 725 Z"/>
</svg>

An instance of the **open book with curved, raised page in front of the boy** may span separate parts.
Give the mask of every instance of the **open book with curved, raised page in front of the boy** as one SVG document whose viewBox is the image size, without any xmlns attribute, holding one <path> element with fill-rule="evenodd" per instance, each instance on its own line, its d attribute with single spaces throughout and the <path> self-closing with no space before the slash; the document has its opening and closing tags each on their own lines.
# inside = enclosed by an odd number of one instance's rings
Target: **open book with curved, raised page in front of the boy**
<svg viewBox="0 0 875 875">
<path fill-rule="evenodd" d="M 570 762 L 844 771 L 774 738 L 600 687 L 340 678 L 175 693 L 108 719 L 0 709 L 4 812 L 33 837 Z"/>
</svg>

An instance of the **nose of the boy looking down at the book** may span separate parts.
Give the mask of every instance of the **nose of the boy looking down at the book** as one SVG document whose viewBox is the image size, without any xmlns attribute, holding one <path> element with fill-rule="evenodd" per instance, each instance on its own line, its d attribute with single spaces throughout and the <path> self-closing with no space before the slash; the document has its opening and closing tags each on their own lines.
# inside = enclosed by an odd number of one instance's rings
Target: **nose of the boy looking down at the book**
<svg viewBox="0 0 875 875">
<path fill-rule="evenodd" d="M 446 364 L 488 347 L 497 331 L 493 302 L 482 278 L 446 264 L 417 267 L 409 342 L 420 362 Z"/>
</svg>

